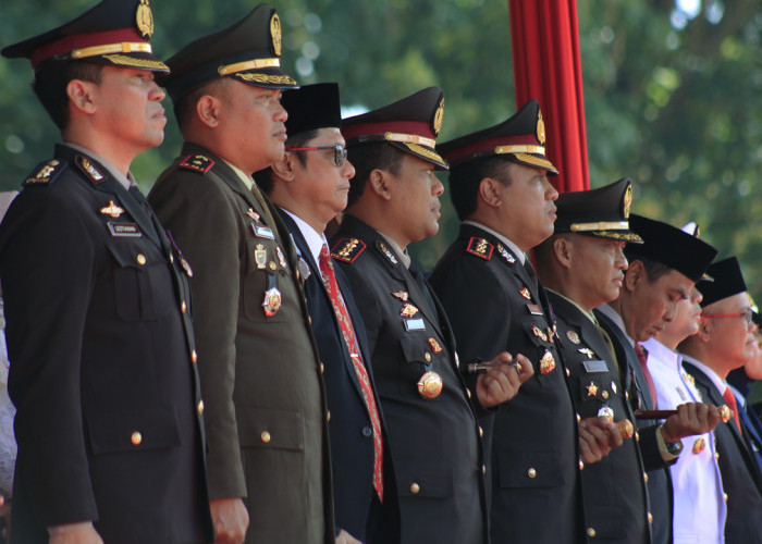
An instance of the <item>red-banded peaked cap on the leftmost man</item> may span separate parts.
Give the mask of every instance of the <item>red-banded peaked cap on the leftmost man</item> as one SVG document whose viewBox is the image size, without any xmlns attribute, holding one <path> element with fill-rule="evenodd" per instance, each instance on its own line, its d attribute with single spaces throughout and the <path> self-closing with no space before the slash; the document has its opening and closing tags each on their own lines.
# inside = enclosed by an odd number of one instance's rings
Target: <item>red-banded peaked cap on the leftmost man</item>
<svg viewBox="0 0 762 544">
<path fill-rule="evenodd" d="M 29 59 L 37 70 L 48 60 L 85 60 L 118 67 L 169 72 L 153 57 L 153 13 L 149 0 L 103 0 L 45 34 L 2 50 L 9 59 Z"/>
</svg>

